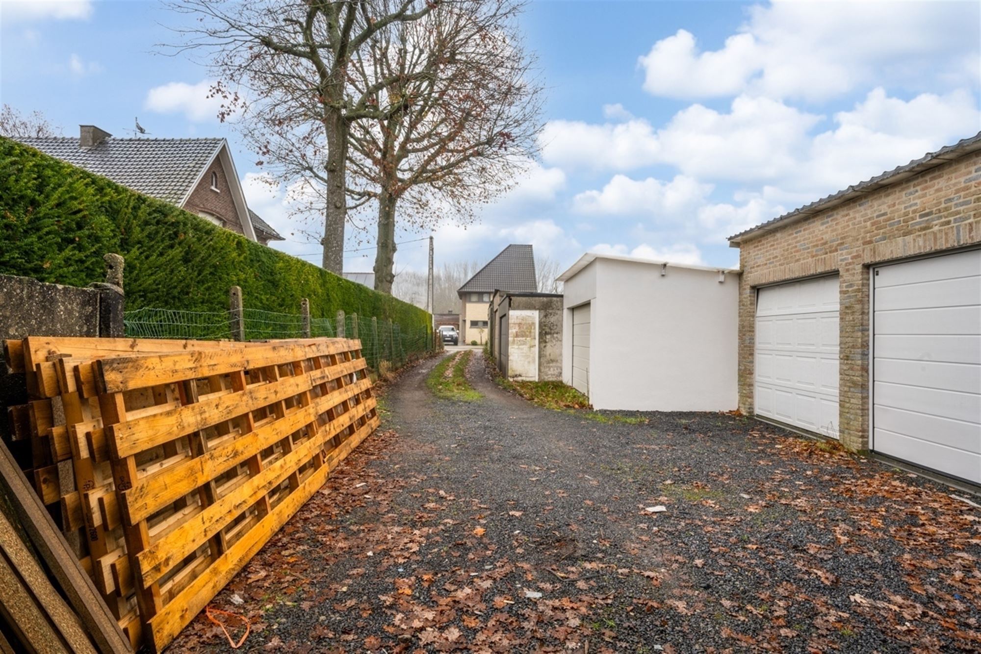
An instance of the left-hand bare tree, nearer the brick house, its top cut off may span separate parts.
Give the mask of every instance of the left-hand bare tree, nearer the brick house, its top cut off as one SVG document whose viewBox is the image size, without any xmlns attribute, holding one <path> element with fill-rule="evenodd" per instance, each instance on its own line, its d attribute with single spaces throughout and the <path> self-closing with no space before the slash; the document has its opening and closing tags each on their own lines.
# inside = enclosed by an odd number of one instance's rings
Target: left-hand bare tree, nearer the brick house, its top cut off
<svg viewBox="0 0 981 654">
<path fill-rule="evenodd" d="M 417 21 L 439 2 L 184 0 L 171 5 L 195 19 L 175 28 L 182 42 L 171 47 L 207 53 L 218 79 L 211 92 L 224 100 L 222 120 L 239 114 L 236 125 L 259 156 L 270 160 L 277 181 L 285 181 L 308 206 L 323 207 L 327 270 L 339 274 L 343 267 L 350 126 L 364 119 L 384 121 L 401 108 L 400 101 L 372 102 L 393 79 L 380 77 L 357 92 L 349 83 L 351 61 L 377 32 Z"/>
</svg>

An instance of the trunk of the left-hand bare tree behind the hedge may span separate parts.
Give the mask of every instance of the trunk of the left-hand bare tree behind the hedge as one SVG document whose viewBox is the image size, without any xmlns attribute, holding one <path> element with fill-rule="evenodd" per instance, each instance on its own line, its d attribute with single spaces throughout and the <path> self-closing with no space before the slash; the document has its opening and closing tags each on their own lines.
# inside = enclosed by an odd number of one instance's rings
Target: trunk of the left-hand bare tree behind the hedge
<svg viewBox="0 0 981 654">
<path fill-rule="evenodd" d="M 327 208 L 324 216 L 323 267 L 341 275 L 344 269 L 344 226 L 347 222 L 347 130 L 343 111 L 331 109 L 327 127 Z"/>
</svg>

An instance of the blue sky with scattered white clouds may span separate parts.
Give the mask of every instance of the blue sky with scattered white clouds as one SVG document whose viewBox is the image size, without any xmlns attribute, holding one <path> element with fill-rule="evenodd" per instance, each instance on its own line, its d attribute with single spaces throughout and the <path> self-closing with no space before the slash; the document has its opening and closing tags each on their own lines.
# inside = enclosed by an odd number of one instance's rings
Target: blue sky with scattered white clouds
<svg viewBox="0 0 981 654">
<path fill-rule="evenodd" d="M 726 236 L 981 130 L 979 8 L 531 2 L 541 155 L 478 224 L 437 229 L 437 264 L 531 242 L 563 268 L 586 251 L 734 266 Z M 257 181 L 257 157 L 204 97 L 204 68 L 154 54 L 179 20 L 154 2 L 0 3 L 0 102 L 67 135 L 92 123 L 126 136 L 138 116 L 155 136 L 225 136 L 250 206 L 287 236 L 277 247 L 318 261 L 318 223 Z M 345 268 L 373 256 L 351 252 Z M 406 244 L 396 268 L 425 258 Z"/>
</svg>

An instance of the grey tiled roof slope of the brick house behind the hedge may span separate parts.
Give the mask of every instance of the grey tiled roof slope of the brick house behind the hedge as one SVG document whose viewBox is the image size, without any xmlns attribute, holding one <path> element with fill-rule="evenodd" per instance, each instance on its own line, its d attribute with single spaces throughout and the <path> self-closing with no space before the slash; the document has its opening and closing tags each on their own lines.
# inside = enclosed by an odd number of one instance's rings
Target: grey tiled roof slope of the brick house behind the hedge
<svg viewBox="0 0 981 654">
<path fill-rule="evenodd" d="M 83 150 L 77 138 L 67 136 L 20 140 L 56 159 L 176 205 L 225 142 L 224 138 L 110 137 Z"/>
</svg>

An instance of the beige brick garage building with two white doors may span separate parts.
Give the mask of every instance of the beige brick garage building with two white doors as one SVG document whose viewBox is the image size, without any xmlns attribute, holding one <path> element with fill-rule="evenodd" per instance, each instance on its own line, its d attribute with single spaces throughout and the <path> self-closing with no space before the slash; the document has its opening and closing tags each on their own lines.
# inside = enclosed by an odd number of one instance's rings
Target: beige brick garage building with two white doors
<svg viewBox="0 0 981 654">
<path fill-rule="evenodd" d="M 730 245 L 744 412 L 981 483 L 981 133 Z"/>
</svg>

